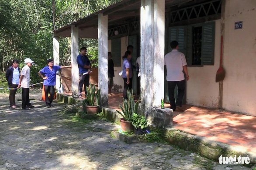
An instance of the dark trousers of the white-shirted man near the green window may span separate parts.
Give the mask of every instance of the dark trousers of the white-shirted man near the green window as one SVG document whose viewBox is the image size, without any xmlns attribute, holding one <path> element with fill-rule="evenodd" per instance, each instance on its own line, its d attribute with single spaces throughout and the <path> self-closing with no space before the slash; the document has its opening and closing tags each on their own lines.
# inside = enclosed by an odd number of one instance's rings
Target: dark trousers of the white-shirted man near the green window
<svg viewBox="0 0 256 170">
<path fill-rule="evenodd" d="M 173 111 L 176 110 L 176 106 L 181 107 L 182 105 L 182 99 L 185 93 L 185 80 L 181 81 L 167 81 L 168 83 L 168 94 L 169 94 L 169 100 L 171 104 L 171 109 Z M 174 97 L 174 89 L 177 84 L 178 87 L 178 97 L 175 103 L 175 97 Z"/>
</svg>

